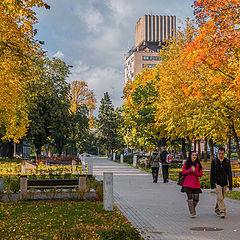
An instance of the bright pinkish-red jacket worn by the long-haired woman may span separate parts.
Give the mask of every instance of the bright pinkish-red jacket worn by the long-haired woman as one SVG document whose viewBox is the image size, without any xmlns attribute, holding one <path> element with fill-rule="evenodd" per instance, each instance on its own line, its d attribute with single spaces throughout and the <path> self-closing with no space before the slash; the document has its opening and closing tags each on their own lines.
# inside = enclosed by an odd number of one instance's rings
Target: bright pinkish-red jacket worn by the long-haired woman
<svg viewBox="0 0 240 240">
<path fill-rule="evenodd" d="M 186 169 L 187 163 L 183 164 L 183 175 L 185 175 L 183 186 L 190 188 L 200 188 L 199 177 L 202 176 L 202 169 L 199 170 L 199 164 L 197 163 L 196 169 L 193 172 L 192 168 Z"/>
</svg>

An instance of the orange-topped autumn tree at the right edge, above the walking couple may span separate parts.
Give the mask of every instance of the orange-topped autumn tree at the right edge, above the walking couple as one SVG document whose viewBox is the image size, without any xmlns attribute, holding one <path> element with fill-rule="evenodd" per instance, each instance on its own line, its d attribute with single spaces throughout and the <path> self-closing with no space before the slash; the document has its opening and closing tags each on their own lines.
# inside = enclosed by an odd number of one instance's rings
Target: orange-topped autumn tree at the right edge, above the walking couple
<svg viewBox="0 0 240 240">
<path fill-rule="evenodd" d="M 238 0 L 195 1 L 194 13 L 198 29 L 194 40 L 186 46 L 185 55 L 189 68 L 196 67 L 199 63 L 208 68 L 209 78 L 202 85 L 206 93 L 205 104 L 219 110 L 219 117 L 224 123 L 224 138 L 229 134 L 234 137 L 240 157 L 239 7 Z M 202 94 L 202 89 L 196 92 Z"/>
</svg>

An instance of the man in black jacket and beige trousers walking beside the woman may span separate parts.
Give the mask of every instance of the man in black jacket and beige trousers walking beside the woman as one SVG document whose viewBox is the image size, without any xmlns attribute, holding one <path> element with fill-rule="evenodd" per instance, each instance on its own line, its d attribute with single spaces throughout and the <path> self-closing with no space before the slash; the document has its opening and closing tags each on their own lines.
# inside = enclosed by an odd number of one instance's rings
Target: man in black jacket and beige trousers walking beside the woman
<svg viewBox="0 0 240 240">
<path fill-rule="evenodd" d="M 224 157 L 225 149 L 218 149 L 218 158 L 211 163 L 210 182 L 211 188 L 216 188 L 217 203 L 215 213 L 221 218 L 226 216 L 226 207 L 224 198 L 226 196 L 226 187 L 229 183 L 229 190 L 232 190 L 232 169 L 230 161 Z"/>
</svg>

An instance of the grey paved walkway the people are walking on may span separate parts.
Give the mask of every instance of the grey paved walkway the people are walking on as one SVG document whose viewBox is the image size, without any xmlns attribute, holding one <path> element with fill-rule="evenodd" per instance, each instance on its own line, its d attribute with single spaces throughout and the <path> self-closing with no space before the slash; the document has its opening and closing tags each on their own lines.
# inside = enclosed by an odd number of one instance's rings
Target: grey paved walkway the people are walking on
<svg viewBox="0 0 240 240">
<path fill-rule="evenodd" d="M 227 217 L 214 214 L 215 195 L 203 190 L 198 217 L 189 217 L 186 196 L 175 182 L 152 183 L 148 173 L 104 158 L 94 159 L 94 175 L 114 174 L 114 201 L 145 239 L 239 240 L 240 202 L 226 199 Z M 222 231 L 191 231 L 193 227 L 221 228 Z"/>
</svg>

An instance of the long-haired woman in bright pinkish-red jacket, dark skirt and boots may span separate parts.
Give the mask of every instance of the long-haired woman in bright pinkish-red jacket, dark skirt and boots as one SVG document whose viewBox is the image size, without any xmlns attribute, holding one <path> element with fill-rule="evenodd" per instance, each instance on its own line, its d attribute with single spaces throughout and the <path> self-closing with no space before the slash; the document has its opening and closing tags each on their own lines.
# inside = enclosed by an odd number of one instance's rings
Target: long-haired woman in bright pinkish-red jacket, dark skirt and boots
<svg viewBox="0 0 240 240">
<path fill-rule="evenodd" d="M 191 217 L 196 217 L 196 206 L 199 202 L 200 189 L 199 177 L 202 176 L 202 165 L 195 151 L 191 152 L 187 161 L 183 164 L 183 175 L 185 176 L 181 192 L 187 193 L 188 208 Z"/>
</svg>

